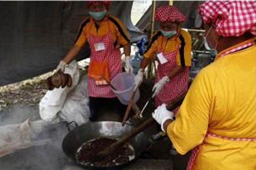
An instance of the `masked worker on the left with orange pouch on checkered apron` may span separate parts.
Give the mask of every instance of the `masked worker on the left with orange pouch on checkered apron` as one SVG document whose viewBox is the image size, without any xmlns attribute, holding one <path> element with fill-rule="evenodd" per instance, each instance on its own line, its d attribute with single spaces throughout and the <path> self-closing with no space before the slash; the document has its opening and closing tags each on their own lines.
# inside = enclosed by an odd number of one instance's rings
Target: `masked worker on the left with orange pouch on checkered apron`
<svg viewBox="0 0 256 170">
<path fill-rule="evenodd" d="M 129 62 L 130 38 L 123 23 L 108 13 L 110 1 L 88 1 L 90 17 L 80 27 L 71 50 L 60 61 L 56 71 L 64 71 L 81 51 L 86 43 L 90 46 L 90 64 L 88 69 L 88 96 L 90 120 L 95 121 L 100 105 L 113 104 L 119 113 L 125 111 L 108 85 L 110 80 L 122 72 L 120 46 L 124 47 L 127 72 L 132 72 Z"/>
</svg>

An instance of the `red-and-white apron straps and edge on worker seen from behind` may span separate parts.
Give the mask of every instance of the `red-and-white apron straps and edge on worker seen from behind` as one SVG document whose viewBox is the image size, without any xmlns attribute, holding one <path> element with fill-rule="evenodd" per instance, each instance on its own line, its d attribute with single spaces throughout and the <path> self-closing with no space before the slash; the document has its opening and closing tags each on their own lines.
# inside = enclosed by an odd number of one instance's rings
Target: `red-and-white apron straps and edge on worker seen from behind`
<svg viewBox="0 0 256 170">
<path fill-rule="evenodd" d="M 223 57 L 224 55 L 227 55 L 227 54 L 239 51 L 241 49 L 250 47 L 254 44 L 255 44 L 254 39 L 249 40 L 249 42 L 242 43 L 241 45 L 236 46 L 235 48 L 231 48 L 231 49 L 229 49 L 229 50 L 227 50 L 223 53 L 220 53 L 218 56 L 216 56 L 216 59 L 219 58 L 219 57 Z M 232 141 L 256 141 L 256 138 L 230 138 L 230 137 L 224 137 L 224 136 L 216 135 L 216 134 L 209 133 L 209 132 L 206 134 L 204 139 L 209 137 L 209 136 L 217 137 L 217 138 L 221 138 L 221 139 L 226 139 L 226 140 L 232 140 Z M 198 153 L 200 152 L 200 148 L 202 147 L 203 143 L 193 149 L 192 154 L 191 154 L 191 156 L 189 158 L 189 161 L 188 161 L 187 170 L 192 170 L 193 169 L 193 166 L 195 165 L 196 157 L 197 157 Z"/>
</svg>

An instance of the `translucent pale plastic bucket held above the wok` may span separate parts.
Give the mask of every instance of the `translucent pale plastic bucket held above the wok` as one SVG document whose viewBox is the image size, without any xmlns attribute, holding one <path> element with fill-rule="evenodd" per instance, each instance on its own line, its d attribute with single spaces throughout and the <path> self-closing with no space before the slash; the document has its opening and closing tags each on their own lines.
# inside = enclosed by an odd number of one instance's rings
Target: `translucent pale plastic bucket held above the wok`
<svg viewBox="0 0 256 170">
<path fill-rule="evenodd" d="M 134 75 L 127 74 L 126 72 L 122 72 L 117 74 L 112 80 L 111 85 L 115 87 L 112 91 L 119 99 L 119 101 L 127 105 L 131 99 L 133 89 L 134 89 Z M 133 102 L 137 102 L 140 98 L 140 91 L 137 90 Z"/>
</svg>

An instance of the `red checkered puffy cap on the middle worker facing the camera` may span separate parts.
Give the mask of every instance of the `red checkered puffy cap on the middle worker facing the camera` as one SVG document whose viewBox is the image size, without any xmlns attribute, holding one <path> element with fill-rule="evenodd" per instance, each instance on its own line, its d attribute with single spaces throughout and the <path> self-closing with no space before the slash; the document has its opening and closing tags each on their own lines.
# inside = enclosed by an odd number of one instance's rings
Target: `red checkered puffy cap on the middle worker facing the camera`
<svg viewBox="0 0 256 170">
<path fill-rule="evenodd" d="M 156 21 L 183 22 L 186 17 L 174 6 L 161 6 L 156 9 Z"/>
</svg>

